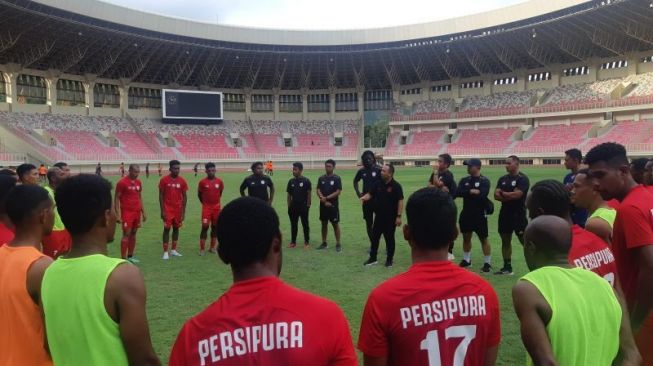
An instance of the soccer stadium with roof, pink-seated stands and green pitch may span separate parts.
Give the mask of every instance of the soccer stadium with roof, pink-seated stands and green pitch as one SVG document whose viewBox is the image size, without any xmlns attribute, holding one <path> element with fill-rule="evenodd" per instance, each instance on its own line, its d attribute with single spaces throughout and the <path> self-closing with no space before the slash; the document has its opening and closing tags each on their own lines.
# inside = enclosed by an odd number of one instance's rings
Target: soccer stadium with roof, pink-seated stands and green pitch
<svg viewBox="0 0 653 366">
<path fill-rule="evenodd" d="M 238 187 L 250 174 L 250 166 L 255 167 L 252 163 L 267 162 L 266 172 L 276 187 L 276 197 L 269 202 L 279 215 L 284 248 L 280 278 L 342 309 L 357 362 L 363 364 L 370 356 L 365 350 L 368 346 L 359 342 L 368 295 L 412 263 L 412 244 L 407 244 L 402 228 L 397 227 L 396 233 L 392 231 L 397 241 L 394 262 L 389 260 L 385 268 L 382 264 L 363 266 L 370 239 L 361 215 L 358 183 L 354 191 L 351 182 L 365 165 L 364 151 L 373 152 L 379 163 L 392 165 L 392 175 L 403 186 L 404 203 L 433 181 L 429 175 L 442 156 L 453 158 L 450 170 L 455 182 L 467 177 L 468 168 L 482 166 L 483 176 L 491 183 L 488 197 L 497 211 L 486 216 L 495 269 L 501 267 L 503 234 L 497 227 L 499 208 L 505 205 L 495 188 L 499 189 L 497 181 L 510 164 L 507 157 L 514 156 L 517 165 L 521 164 L 520 171 L 532 188 L 546 179 L 562 182 L 571 149 L 582 151 L 585 157 L 598 145 L 617 143 L 625 147 L 629 160 L 653 155 L 650 0 L 528 0 L 429 23 L 349 30 L 212 24 L 98 0 L 0 0 L 0 25 L 0 165 L 14 169 L 25 163 L 50 167 L 66 162 L 73 175 L 99 173 L 101 166 L 102 175 L 114 188 L 130 165 L 140 166 L 143 222 L 136 246 L 137 267 L 147 289 L 151 342 L 164 364 L 186 321 L 233 283 L 228 265 L 215 255 L 197 255 L 204 202 L 200 202 L 201 193 L 197 199 L 195 187 L 205 177 L 205 163 L 215 163 L 217 176 L 224 182 L 224 192 L 220 191 L 224 208 L 241 195 Z M 592 160 L 598 155 L 589 160 L 602 163 L 602 158 Z M 338 250 L 334 250 L 331 225 L 318 218 L 318 203 L 308 214 L 309 245 L 294 248 L 287 214 L 290 191 L 286 200 L 293 163 L 303 163 L 305 177 L 319 191 L 319 177 L 328 159 L 342 179 L 335 220 L 342 230 Z M 169 225 L 162 223 L 161 217 L 166 222 L 164 203 L 159 205 L 157 199 L 162 200 L 159 179 L 168 174 L 171 160 L 180 162 L 190 194 L 187 204 L 184 198 L 183 226 L 181 222 L 173 226 L 180 231 L 183 257 L 168 259 L 164 236 L 166 260 L 162 260 L 161 230 L 164 226 L 168 230 Z M 43 180 L 47 185 L 45 173 Z M 322 199 L 313 192 L 314 202 Z M 525 201 L 526 193 L 519 199 Z M 460 213 L 463 201 L 455 202 Z M 403 225 L 407 220 L 399 207 L 398 220 Z M 320 221 L 323 230 L 328 228 L 329 245 L 318 251 Z M 616 236 L 616 223 L 614 230 Z M 612 223 L 610 231 L 611 239 Z M 121 256 L 121 232 L 116 228 L 115 243 L 108 245 L 111 257 Z M 379 259 L 385 258 L 385 241 L 381 242 Z M 467 260 L 472 264 L 470 272 L 487 280 L 496 292 L 501 321 L 496 364 L 523 364 L 534 354 L 522 343 L 524 323 L 520 329 L 522 317 L 513 308 L 511 289 L 529 272 L 525 250 L 513 238 L 509 272 L 512 275 L 514 269 L 514 276 L 494 276 L 481 272 L 483 260 L 489 265 L 490 258 L 483 253 L 483 259 L 476 235 L 472 243 L 473 259 L 468 259 L 463 235 L 455 238 L 452 260 L 456 264 Z M 245 310 L 243 314 L 251 315 Z M 420 324 L 414 309 L 408 315 Z M 652 324 L 650 315 L 649 329 Z M 592 329 L 573 333 L 604 330 Z M 463 336 L 467 337 L 451 337 Z M 369 337 L 365 333 L 366 341 Z M 423 337 L 427 337 L 426 330 Z M 414 353 L 421 352 L 422 358 L 411 355 L 387 364 L 426 365 L 419 362 L 427 362 L 427 350 L 429 365 L 484 364 L 480 358 L 465 358 L 468 338 L 454 352 L 438 346 L 437 332 L 435 337 L 437 357 L 442 351 L 443 357 L 455 356 L 454 361 L 436 360 L 433 342 L 427 338 L 415 345 Z M 445 336 L 440 338 L 444 342 Z M 205 361 L 220 364 L 220 357 L 209 355 L 218 352 L 217 348 L 203 351 L 201 347 L 200 355 L 205 351 L 202 365 Z M 233 348 L 227 359 L 225 344 L 220 347 L 222 359 L 235 362 L 231 364 L 289 362 L 249 358 L 239 363 Z M 628 352 L 619 350 L 620 357 L 627 358 Z M 182 363 L 170 359 L 170 364 Z"/>
</svg>

